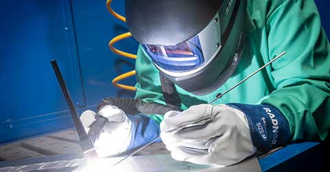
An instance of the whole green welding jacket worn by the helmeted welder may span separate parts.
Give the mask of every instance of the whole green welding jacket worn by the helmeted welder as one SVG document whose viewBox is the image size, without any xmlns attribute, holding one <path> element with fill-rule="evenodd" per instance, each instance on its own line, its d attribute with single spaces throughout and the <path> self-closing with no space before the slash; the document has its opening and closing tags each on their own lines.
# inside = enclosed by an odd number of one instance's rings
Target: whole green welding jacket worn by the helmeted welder
<svg viewBox="0 0 330 172">
<path fill-rule="evenodd" d="M 181 109 L 208 103 L 286 51 L 214 104 L 268 104 L 287 118 L 292 141 L 325 140 L 330 131 L 330 44 L 312 0 L 248 0 L 239 66 L 215 92 L 195 96 L 175 85 Z M 135 98 L 165 105 L 159 72 L 139 47 Z M 162 116 L 151 115 L 157 122 Z"/>
</svg>

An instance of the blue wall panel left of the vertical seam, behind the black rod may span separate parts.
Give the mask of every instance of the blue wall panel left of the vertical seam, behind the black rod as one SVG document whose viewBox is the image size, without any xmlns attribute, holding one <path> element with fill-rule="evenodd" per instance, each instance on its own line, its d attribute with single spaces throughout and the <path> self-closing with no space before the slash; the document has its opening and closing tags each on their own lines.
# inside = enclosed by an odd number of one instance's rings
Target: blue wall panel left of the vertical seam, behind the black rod
<svg viewBox="0 0 330 172">
<path fill-rule="evenodd" d="M 0 142 L 70 126 L 50 65 L 61 65 L 77 104 L 85 106 L 67 1 L 3 1 Z"/>
</svg>

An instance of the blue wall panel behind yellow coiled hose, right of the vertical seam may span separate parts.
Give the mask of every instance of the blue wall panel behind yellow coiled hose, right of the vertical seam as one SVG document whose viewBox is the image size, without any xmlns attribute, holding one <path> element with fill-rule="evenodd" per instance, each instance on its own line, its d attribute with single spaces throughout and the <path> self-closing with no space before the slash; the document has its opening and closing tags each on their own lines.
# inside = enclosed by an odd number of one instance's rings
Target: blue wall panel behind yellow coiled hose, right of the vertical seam
<svg viewBox="0 0 330 172">
<path fill-rule="evenodd" d="M 109 41 L 125 32 L 126 23 L 115 19 L 105 6 L 106 1 L 72 0 L 78 55 L 83 74 L 87 105 L 96 105 L 107 96 L 134 96 L 134 92 L 117 89 L 111 85 L 115 76 L 134 69 L 134 60 L 118 56 L 109 50 Z M 124 1 L 111 4 L 124 15 Z M 135 54 L 138 44 L 126 39 L 115 44 L 118 49 Z M 135 77 L 121 83 L 133 85 Z"/>
</svg>

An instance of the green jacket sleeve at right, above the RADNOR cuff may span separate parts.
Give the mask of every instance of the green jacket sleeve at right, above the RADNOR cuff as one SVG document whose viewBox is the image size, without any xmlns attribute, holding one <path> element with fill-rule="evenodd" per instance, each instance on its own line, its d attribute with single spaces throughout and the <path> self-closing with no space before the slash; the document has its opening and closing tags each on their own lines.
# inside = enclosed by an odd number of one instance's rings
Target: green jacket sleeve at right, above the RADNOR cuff
<svg viewBox="0 0 330 172">
<path fill-rule="evenodd" d="M 287 118 L 292 141 L 325 140 L 330 130 L 330 45 L 314 1 L 283 1 L 266 21 L 276 90 L 264 104 Z"/>
</svg>

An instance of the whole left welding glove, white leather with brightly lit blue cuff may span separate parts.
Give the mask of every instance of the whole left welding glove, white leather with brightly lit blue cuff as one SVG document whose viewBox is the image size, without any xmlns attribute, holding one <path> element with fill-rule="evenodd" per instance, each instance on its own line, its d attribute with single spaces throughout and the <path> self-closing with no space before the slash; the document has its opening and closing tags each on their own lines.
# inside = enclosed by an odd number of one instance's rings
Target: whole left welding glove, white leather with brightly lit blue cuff
<svg viewBox="0 0 330 172">
<path fill-rule="evenodd" d="M 113 105 L 105 105 L 96 114 L 84 111 L 80 116 L 88 132 L 97 116 L 107 118 L 107 122 L 94 143 L 100 158 L 133 151 L 159 136 L 159 125 L 144 114 L 129 115 Z M 159 139 L 160 140 L 160 139 Z"/>
</svg>

